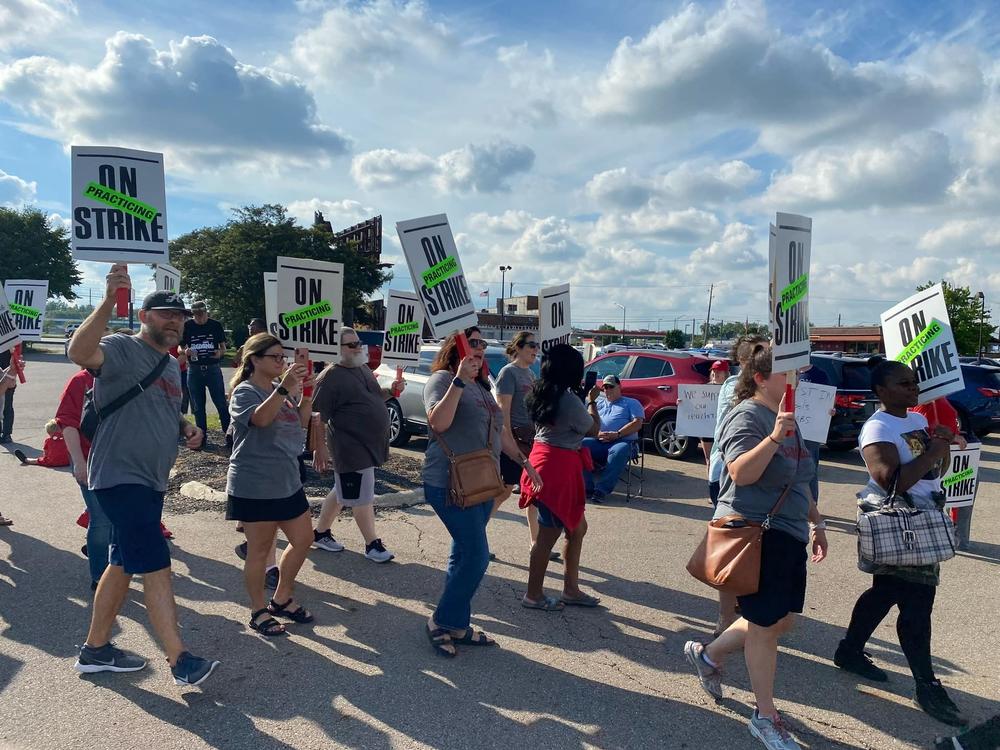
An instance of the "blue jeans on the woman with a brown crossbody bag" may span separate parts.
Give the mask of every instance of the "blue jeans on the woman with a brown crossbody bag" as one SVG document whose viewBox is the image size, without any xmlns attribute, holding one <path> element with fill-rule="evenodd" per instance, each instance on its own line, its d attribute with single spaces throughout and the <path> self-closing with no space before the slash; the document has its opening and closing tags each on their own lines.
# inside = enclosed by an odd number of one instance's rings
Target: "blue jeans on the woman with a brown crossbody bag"
<svg viewBox="0 0 1000 750">
<path fill-rule="evenodd" d="M 434 610 L 434 622 L 448 630 L 469 627 L 472 597 L 490 564 L 490 545 L 486 524 L 493 503 L 480 503 L 468 510 L 448 504 L 448 490 L 424 485 L 424 497 L 451 534 L 451 554 L 445 573 L 444 592 Z"/>
</svg>

